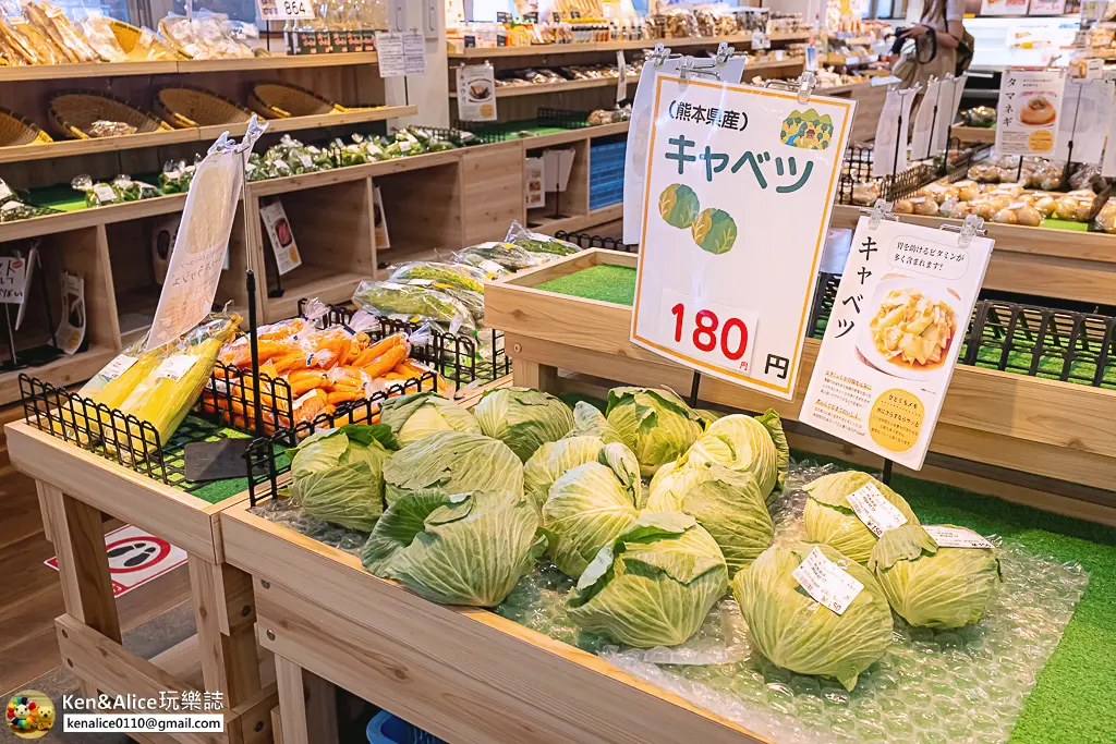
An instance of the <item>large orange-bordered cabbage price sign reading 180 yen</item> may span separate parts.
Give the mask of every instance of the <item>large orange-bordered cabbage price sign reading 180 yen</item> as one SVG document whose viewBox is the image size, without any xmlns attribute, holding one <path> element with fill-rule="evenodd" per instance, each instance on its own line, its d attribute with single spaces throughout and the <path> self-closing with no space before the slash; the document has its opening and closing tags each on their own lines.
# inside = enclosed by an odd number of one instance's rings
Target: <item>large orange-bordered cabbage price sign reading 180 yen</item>
<svg viewBox="0 0 1116 744">
<path fill-rule="evenodd" d="M 634 344 L 793 397 L 855 106 L 655 78 Z"/>
</svg>

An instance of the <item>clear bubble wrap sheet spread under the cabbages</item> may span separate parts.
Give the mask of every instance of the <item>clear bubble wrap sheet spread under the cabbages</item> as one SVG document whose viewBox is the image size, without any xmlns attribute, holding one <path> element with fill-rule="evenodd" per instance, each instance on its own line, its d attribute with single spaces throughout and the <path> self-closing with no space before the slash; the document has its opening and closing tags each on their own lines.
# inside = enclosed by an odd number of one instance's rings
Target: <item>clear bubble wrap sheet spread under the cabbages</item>
<svg viewBox="0 0 1116 744">
<path fill-rule="evenodd" d="M 775 510 L 776 540 L 805 538 L 801 486 L 833 466 L 796 465 Z M 365 535 L 305 516 L 279 502 L 254 510 L 327 544 L 359 553 Z M 496 611 L 615 666 L 773 742 L 1006 742 L 1042 665 L 1054 653 L 1088 574 L 989 535 L 1000 545 L 1003 584 L 984 618 L 956 631 L 895 618 L 887 654 L 845 692 L 834 680 L 796 675 L 752 653 L 731 598 L 719 602 L 682 646 L 618 648 L 581 632 L 566 615 L 574 581 L 540 564 Z"/>
</svg>

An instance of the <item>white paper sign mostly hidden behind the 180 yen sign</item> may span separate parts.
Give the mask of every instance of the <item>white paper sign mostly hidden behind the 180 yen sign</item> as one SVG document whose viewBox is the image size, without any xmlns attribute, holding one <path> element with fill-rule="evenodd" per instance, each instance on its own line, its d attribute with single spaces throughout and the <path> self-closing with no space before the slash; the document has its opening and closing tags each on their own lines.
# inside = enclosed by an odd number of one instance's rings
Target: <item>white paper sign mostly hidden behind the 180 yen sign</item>
<svg viewBox="0 0 1116 744">
<path fill-rule="evenodd" d="M 676 75 L 681 57 L 670 58 L 670 49 L 663 49 L 663 56 L 652 56 L 639 73 L 639 84 L 635 88 L 632 100 L 632 118 L 628 123 L 627 148 L 624 153 L 624 242 L 638 243 L 643 229 L 643 186 L 644 170 L 647 165 L 647 145 L 650 143 L 651 119 L 654 116 L 655 76 Z M 728 61 L 714 69 L 721 80 L 740 83 L 744 74 L 744 57 L 730 57 Z M 708 60 L 706 60 L 708 62 Z"/>
</svg>

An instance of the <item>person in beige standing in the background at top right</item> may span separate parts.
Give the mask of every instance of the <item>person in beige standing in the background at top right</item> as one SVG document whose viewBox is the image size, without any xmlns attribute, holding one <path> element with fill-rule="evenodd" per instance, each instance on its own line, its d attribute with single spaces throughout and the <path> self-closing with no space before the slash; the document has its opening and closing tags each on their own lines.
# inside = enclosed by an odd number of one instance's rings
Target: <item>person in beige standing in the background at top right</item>
<svg viewBox="0 0 1116 744">
<path fill-rule="evenodd" d="M 964 0 L 926 0 L 926 3 L 917 23 L 896 31 L 904 44 L 892 73 L 903 80 L 902 88 L 917 83 L 925 89 L 932 76 L 956 73 L 959 48 L 972 56 L 969 47 L 972 37 L 965 33 L 962 23 Z"/>
</svg>

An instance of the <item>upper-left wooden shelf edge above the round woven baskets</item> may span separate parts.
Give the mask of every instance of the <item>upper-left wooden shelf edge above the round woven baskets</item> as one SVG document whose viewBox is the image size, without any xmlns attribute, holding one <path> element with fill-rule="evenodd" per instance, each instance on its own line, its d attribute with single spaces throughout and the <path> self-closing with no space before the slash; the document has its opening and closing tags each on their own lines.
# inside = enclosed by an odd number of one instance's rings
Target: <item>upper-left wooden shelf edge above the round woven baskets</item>
<svg viewBox="0 0 1116 744">
<path fill-rule="evenodd" d="M 376 65 L 375 51 L 345 55 L 276 55 L 248 59 L 183 59 L 152 62 L 99 62 L 86 65 L 26 65 L 0 67 L 0 84 L 23 80 L 88 79 L 137 75 L 189 75 L 193 73 L 243 73 Z"/>
</svg>

